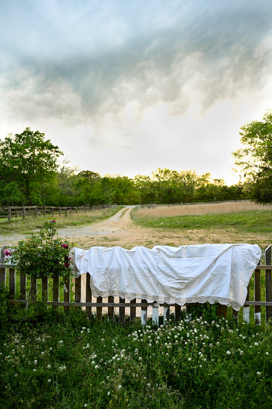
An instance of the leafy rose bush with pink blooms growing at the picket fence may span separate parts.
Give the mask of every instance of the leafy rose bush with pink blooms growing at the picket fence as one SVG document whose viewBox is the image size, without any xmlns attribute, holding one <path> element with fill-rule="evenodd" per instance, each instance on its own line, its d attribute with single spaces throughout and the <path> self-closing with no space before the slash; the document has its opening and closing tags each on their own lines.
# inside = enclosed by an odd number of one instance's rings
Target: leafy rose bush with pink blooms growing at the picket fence
<svg viewBox="0 0 272 409">
<path fill-rule="evenodd" d="M 22 240 L 11 252 L 10 261 L 20 274 L 41 278 L 66 277 L 71 274 L 68 254 L 75 244 L 57 233 L 56 220 L 43 220 L 38 233 Z"/>
</svg>

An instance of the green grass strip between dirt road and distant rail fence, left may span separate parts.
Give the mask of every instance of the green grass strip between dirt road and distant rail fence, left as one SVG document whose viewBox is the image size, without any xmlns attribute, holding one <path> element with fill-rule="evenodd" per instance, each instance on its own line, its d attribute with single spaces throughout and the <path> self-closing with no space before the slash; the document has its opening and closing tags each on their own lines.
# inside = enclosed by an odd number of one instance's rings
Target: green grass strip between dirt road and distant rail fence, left
<svg viewBox="0 0 272 409">
<path fill-rule="evenodd" d="M 102 210 L 92 210 L 89 212 L 78 212 L 67 216 L 61 216 L 59 218 L 57 215 L 54 219 L 58 222 L 58 228 L 66 226 L 80 226 L 87 223 L 99 222 L 104 219 L 109 218 L 121 209 L 121 206 L 116 206 L 115 208 L 108 208 Z M 48 217 L 47 217 L 48 219 Z M 25 220 L 12 219 L 10 222 L 0 223 L 0 234 L 10 234 L 10 233 L 31 233 L 33 230 L 39 229 L 42 226 L 42 217 L 30 216 Z"/>
</svg>

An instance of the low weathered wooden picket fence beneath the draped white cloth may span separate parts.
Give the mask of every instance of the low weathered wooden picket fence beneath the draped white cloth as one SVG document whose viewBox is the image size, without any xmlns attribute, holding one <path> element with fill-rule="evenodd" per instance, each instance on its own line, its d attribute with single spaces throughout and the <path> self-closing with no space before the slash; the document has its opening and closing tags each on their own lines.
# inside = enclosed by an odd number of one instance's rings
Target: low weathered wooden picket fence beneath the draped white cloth
<svg viewBox="0 0 272 409">
<path fill-rule="evenodd" d="M 272 320 L 271 270 L 271 246 L 269 246 L 265 250 L 265 264 L 259 263 L 254 272 L 254 294 L 250 294 L 251 284 L 248 286 L 248 295 L 242 307 L 242 320 L 249 323 L 250 317 L 253 317 L 256 325 L 260 325 L 262 321 L 268 323 Z M 9 287 L 10 302 L 23 304 L 27 302 L 28 285 L 26 276 L 18 278 L 19 291 L 16 292 L 16 270 L 14 266 L 7 268 L 5 264 L 0 264 L 0 289 L 1 286 L 6 287 L 7 285 Z M 115 317 L 118 316 L 118 321 L 123 326 L 127 320 L 132 321 L 136 317 L 141 317 L 141 323 L 145 325 L 148 317 L 152 317 L 153 323 L 158 324 L 160 315 L 163 315 L 163 322 L 165 322 L 165 320 L 169 319 L 170 311 L 173 311 L 172 314 L 175 316 L 175 321 L 181 318 L 184 309 L 186 309 L 187 316 L 190 314 L 190 304 L 181 307 L 178 304 L 148 303 L 146 300 L 136 299 L 132 301 L 121 298 L 116 300 L 114 297 L 108 297 L 104 301 L 102 297 L 95 299 L 91 294 L 90 275 L 88 273 L 86 274 L 86 285 L 84 281 L 84 288 L 82 286 L 82 276 L 74 278 L 72 282 L 70 279 L 67 279 L 64 285 L 61 286 L 59 277 L 55 277 L 50 282 L 52 285 L 51 292 L 49 291 L 50 285 L 48 284 L 47 277 L 43 277 L 40 280 L 39 286 L 37 280 L 31 279 L 29 288 L 31 288 L 32 284 L 32 301 L 40 300 L 47 305 L 53 305 L 54 308 L 63 307 L 66 312 L 69 312 L 71 306 L 85 308 L 89 319 L 96 317 L 96 319 L 101 320 L 103 315 L 107 315 L 110 321 L 114 321 Z M 71 291 L 71 286 L 73 286 L 73 291 Z M 48 300 L 49 293 L 52 294 L 51 301 Z M 83 302 L 82 299 L 85 301 Z M 149 311 L 150 313 L 148 314 Z M 218 305 L 218 315 L 226 318 L 227 307 Z M 238 311 L 232 310 L 232 316 L 238 320 Z"/>
</svg>

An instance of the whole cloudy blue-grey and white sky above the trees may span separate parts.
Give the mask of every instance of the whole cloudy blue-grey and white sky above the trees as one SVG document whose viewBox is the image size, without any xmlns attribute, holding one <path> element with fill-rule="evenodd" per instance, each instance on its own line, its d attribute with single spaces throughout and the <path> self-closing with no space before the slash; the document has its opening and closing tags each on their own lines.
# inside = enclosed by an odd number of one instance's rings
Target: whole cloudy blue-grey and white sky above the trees
<svg viewBox="0 0 272 409">
<path fill-rule="evenodd" d="M 239 131 L 272 109 L 271 0 L 0 0 L 0 138 L 69 166 L 237 183 Z"/>
</svg>

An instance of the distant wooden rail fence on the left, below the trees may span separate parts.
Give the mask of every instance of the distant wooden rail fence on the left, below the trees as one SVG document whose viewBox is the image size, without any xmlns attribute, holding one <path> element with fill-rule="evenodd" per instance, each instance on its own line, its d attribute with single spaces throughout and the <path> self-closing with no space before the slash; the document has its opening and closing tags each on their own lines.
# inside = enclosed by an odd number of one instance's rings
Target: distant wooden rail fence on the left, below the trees
<svg viewBox="0 0 272 409">
<path fill-rule="evenodd" d="M 98 206 L 69 206 L 69 207 L 56 207 L 56 206 L 7 206 L 0 207 L 0 219 L 12 219 L 22 218 L 27 216 L 67 216 L 68 214 L 87 212 L 92 210 L 101 210 L 111 207 L 111 205 L 98 205 Z"/>
</svg>

